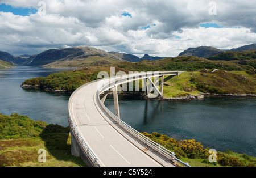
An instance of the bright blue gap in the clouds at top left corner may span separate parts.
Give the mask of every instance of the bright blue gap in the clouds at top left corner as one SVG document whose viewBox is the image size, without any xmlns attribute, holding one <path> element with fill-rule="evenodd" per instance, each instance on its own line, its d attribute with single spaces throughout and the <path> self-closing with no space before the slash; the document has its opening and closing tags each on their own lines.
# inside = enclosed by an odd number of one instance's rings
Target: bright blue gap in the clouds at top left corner
<svg viewBox="0 0 256 178">
<path fill-rule="evenodd" d="M 12 12 L 14 15 L 28 16 L 30 14 L 35 14 L 37 9 L 22 9 L 22 8 L 14 8 L 11 5 L 6 5 L 2 3 L 0 5 L 0 11 L 2 12 Z"/>
</svg>

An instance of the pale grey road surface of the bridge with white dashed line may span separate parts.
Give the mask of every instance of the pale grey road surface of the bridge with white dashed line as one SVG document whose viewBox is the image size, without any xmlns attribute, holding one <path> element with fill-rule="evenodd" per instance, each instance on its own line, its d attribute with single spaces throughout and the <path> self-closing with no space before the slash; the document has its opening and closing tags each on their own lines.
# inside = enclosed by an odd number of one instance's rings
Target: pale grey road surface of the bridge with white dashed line
<svg viewBox="0 0 256 178">
<path fill-rule="evenodd" d="M 97 82 L 81 88 L 69 102 L 70 113 L 84 140 L 106 167 L 173 166 L 119 129 L 96 103 Z"/>
</svg>

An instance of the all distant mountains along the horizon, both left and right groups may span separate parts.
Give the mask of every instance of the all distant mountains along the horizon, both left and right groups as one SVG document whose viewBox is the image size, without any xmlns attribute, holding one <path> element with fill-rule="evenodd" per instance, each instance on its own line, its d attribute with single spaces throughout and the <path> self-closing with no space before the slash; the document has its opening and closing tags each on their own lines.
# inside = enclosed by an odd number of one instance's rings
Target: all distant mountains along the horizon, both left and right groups
<svg viewBox="0 0 256 178">
<path fill-rule="evenodd" d="M 189 48 L 180 53 L 179 56 L 196 56 L 209 58 L 225 52 L 237 52 L 241 50 L 256 49 L 256 44 L 241 46 L 240 48 L 221 50 L 210 46 Z M 117 52 L 105 52 L 104 50 L 80 46 L 73 48 L 49 49 L 40 54 L 13 56 L 7 52 L 0 52 L 0 60 L 9 62 L 11 65 L 27 65 L 40 67 L 87 67 L 101 64 L 112 64 L 122 61 L 140 62 L 143 60 L 160 60 L 165 57 L 152 57 L 145 54 L 139 58 L 133 54 Z M 209 58 L 213 60 L 213 58 Z M 218 57 L 218 60 L 221 60 Z"/>
</svg>

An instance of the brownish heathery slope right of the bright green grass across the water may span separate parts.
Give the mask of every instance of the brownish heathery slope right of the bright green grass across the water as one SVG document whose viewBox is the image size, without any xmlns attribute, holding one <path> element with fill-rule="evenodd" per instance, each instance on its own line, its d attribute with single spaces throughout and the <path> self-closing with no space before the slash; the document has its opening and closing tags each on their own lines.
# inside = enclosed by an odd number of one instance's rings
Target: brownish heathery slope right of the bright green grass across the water
<svg viewBox="0 0 256 178">
<path fill-rule="evenodd" d="M 256 94 L 255 74 L 204 69 L 192 75 L 197 90 L 210 94 Z"/>
</svg>

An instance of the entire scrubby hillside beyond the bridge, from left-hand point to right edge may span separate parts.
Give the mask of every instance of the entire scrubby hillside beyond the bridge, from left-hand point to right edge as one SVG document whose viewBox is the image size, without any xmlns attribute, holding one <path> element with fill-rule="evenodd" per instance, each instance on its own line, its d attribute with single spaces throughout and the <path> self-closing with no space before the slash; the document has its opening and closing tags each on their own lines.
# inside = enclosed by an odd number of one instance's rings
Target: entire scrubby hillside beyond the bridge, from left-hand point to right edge
<svg viewBox="0 0 256 178">
<path fill-rule="evenodd" d="M 118 62 L 112 65 L 97 65 L 89 68 L 51 74 L 45 78 L 33 78 L 23 86 L 39 86 L 53 90 L 75 91 L 82 84 L 97 79 L 100 71 L 194 71 L 172 79 L 166 78 L 165 97 L 199 95 L 202 92 L 214 94 L 255 94 L 255 71 L 252 66 L 238 65 L 229 61 L 210 61 L 199 57 L 164 58 L 156 61 Z M 209 69 L 209 70 L 206 70 Z M 213 69 L 218 69 L 214 70 Z M 251 71 L 251 72 L 246 72 Z"/>
</svg>

